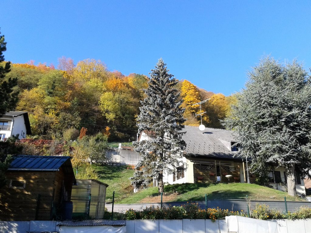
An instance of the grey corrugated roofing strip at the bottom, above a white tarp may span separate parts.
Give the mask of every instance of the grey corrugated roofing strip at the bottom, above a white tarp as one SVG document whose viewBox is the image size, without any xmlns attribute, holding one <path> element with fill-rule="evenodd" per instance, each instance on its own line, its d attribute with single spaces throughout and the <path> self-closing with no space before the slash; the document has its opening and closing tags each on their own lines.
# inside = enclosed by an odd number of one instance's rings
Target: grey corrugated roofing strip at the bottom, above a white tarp
<svg viewBox="0 0 311 233">
<path fill-rule="evenodd" d="M 57 226 L 125 226 L 125 220 L 83 220 L 83 221 L 63 221 Z"/>
</svg>

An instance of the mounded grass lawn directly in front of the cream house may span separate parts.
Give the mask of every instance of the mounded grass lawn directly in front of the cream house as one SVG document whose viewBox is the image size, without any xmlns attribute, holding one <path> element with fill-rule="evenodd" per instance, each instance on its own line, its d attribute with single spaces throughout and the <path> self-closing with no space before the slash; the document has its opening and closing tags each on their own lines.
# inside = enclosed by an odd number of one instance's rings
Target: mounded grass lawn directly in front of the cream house
<svg viewBox="0 0 311 233">
<path fill-rule="evenodd" d="M 219 184 L 176 184 L 164 187 L 163 202 L 174 201 L 204 201 L 208 199 L 245 199 L 248 195 L 256 200 L 304 200 L 299 197 L 290 197 L 287 193 L 255 184 L 219 183 Z M 135 194 L 123 195 L 119 203 L 157 203 L 160 195 L 157 187 L 141 190 Z"/>
</svg>

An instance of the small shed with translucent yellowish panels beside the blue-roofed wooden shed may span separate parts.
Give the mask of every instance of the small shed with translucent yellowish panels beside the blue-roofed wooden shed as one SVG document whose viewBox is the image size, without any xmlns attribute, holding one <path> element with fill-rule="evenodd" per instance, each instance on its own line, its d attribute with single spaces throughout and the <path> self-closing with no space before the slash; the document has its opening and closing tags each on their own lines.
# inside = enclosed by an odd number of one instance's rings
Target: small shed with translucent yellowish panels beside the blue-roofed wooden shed
<svg viewBox="0 0 311 233">
<path fill-rule="evenodd" d="M 73 217 L 104 217 L 107 184 L 98 180 L 77 180 L 72 187 Z"/>
</svg>

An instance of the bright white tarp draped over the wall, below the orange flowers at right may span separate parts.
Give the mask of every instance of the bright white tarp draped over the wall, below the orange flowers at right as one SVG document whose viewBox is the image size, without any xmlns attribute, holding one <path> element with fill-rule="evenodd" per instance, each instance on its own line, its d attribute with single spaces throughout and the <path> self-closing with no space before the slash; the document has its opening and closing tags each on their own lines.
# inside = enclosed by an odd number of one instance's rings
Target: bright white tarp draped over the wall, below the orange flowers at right
<svg viewBox="0 0 311 233">
<path fill-rule="evenodd" d="M 279 233 L 277 222 L 240 217 L 226 217 L 228 233 Z"/>
</svg>

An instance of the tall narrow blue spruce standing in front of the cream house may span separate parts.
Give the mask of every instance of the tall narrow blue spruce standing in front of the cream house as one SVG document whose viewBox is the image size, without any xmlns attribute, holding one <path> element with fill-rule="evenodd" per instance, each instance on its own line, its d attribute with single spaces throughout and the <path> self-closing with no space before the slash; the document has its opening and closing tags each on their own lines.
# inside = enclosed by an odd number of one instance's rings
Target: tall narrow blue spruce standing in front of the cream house
<svg viewBox="0 0 311 233">
<path fill-rule="evenodd" d="M 141 160 L 131 178 L 136 188 L 147 186 L 155 178 L 159 192 L 164 189 L 163 171 L 173 173 L 177 168 L 186 168 L 181 161 L 186 146 L 181 138 L 184 109 L 180 107 L 182 102 L 178 101 L 177 81 L 168 71 L 162 59 L 151 70 L 137 126 L 139 132 L 152 132 L 155 137 L 134 144 Z"/>
</svg>

